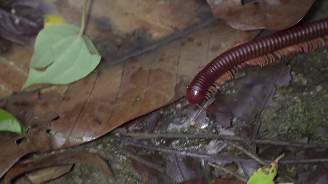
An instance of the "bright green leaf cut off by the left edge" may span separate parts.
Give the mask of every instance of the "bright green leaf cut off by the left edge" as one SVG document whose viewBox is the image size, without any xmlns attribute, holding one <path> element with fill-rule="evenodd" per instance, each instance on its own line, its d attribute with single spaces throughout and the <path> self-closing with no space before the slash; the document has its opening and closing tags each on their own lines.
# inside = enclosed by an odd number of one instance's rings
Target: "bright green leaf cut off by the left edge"
<svg viewBox="0 0 328 184">
<path fill-rule="evenodd" d="M 9 112 L 0 109 L 0 131 L 16 132 L 25 135 L 24 125 Z"/>
</svg>

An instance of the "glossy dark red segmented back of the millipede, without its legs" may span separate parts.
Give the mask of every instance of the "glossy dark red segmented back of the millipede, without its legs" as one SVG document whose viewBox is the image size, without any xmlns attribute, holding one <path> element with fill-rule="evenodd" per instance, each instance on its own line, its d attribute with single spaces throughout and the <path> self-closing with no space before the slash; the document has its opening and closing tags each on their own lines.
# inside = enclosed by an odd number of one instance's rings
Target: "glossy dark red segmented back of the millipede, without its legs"
<svg viewBox="0 0 328 184">
<path fill-rule="evenodd" d="M 203 101 L 211 84 L 240 63 L 327 34 L 328 18 L 325 18 L 233 47 L 214 58 L 194 77 L 187 88 L 187 98 L 193 104 Z"/>
</svg>

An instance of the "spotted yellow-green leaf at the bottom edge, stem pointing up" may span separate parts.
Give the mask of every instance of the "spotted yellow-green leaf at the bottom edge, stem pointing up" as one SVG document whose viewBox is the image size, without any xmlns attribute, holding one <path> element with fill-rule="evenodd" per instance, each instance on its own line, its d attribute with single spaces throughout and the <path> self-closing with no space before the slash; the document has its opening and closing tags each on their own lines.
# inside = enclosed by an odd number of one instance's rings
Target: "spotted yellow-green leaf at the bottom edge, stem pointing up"
<svg viewBox="0 0 328 184">
<path fill-rule="evenodd" d="M 278 161 L 284 156 L 282 154 L 271 164 L 259 168 L 248 180 L 247 184 L 275 184 L 273 179 L 277 175 Z"/>
</svg>

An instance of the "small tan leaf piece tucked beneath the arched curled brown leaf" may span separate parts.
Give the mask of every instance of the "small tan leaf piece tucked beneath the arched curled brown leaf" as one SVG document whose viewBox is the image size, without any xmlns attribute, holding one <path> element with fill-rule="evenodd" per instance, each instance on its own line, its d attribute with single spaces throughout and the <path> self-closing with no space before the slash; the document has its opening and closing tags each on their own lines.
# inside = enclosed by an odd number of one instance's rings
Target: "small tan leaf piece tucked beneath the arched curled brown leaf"
<svg viewBox="0 0 328 184">
<path fill-rule="evenodd" d="M 58 178 L 65 173 L 68 173 L 73 167 L 73 164 L 66 164 L 61 166 L 53 166 L 44 169 L 39 169 L 26 174 L 33 184 L 42 184 L 47 181 Z"/>
</svg>

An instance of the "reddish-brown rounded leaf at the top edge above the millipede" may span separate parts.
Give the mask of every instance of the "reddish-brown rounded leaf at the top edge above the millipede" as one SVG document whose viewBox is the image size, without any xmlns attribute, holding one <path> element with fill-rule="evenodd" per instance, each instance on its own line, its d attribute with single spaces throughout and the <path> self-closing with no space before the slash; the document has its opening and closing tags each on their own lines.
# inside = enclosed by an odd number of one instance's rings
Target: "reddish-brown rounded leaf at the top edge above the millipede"
<svg viewBox="0 0 328 184">
<path fill-rule="evenodd" d="M 290 28 L 299 22 L 314 0 L 207 0 L 215 17 L 241 30 Z"/>
</svg>

